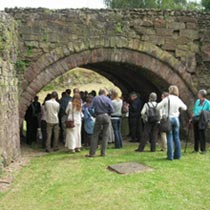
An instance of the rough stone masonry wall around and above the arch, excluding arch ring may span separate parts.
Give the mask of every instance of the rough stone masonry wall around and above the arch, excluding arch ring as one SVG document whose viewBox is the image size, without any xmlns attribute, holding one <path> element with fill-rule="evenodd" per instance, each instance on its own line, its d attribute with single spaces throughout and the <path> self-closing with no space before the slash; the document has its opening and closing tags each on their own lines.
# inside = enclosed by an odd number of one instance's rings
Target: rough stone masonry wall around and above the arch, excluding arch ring
<svg viewBox="0 0 210 210">
<path fill-rule="evenodd" d="M 58 47 L 62 47 L 61 53 L 65 54 L 64 46 L 69 48 L 67 51 L 72 46 L 79 46 L 75 43 L 91 48 L 94 40 L 101 45 L 108 38 L 110 42 L 129 42 L 132 38 L 157 46 L 186 67 L 187 78 L 194 89 L 206 88 L 210 92 L 210 13 L 7 9 L 0 12 L 1 165 L 9 164 L 20 154 L 18 100 L 28 85 L 24 78 L 27 69 Z M 96 48 L 97 42 L 94 42 Z M 115 45 L 110 43 L 113 50 Z M 52 53 L 49 59 L 56 60 L 56 56 Z M 45 62 L 43 60 L 39 66 Z M 30 76 L 33 81 L 33 75 Z M 21 84 L 22 81 L 25 83 Z"/>
</svg>

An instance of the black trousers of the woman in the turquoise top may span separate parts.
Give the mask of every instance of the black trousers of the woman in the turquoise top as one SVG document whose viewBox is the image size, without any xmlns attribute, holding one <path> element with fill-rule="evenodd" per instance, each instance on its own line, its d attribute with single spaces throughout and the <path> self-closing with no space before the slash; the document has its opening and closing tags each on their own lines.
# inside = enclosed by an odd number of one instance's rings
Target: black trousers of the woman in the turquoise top
<svg viewBox="0 0 210 210">
<path fill-rule="evenodd" d="M 206 130 L 199 129 L 199 121 L 196 120 L 193 122 L 194 128 L 194 150 L 196 152 L 199 151 L 199 147 L 201 152 L 206 151 Z"/>
</svg>

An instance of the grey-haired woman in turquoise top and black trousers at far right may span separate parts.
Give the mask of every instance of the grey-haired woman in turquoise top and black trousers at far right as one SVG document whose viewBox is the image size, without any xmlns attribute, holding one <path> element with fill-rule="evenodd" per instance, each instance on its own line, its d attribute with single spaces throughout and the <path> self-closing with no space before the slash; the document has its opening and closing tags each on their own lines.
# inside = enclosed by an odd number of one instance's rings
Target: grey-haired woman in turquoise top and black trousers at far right
<svg viewBox="0 0 210 210">
<path fill-rule="evenodd" d="M 193 128 L 194 128 L 194 151 L 193 153 L 197 153 L 199 151 L 199 147 L 201 150 L 201 154 L 205 154 L 206 152 L 206 135 L 205 129 L 199 128 L 199 120 L 202 111 L 210 111 L 210 101 L 206 99 L 207 91 L 202 89 L 198 92 L 198 99 L 195 102 L 193 109 Z"/>
</svg>

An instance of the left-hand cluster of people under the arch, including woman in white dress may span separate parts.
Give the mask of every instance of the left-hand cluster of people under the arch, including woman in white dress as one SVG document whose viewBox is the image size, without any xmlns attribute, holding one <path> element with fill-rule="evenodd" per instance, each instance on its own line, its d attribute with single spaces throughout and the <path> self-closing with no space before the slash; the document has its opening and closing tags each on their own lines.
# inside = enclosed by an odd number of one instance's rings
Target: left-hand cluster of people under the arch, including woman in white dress
<svg viewBox="0 0 210 210">
<path fill-rule="evenodd" d="M 123 102 L 117 91 L 108 92 L 101 89 L 99 95 L 96 92 L 80 92 L 78 88 L 67 89 L 58 99 L 57 92 L 48 94 L 41 105 L 38 97 L 29 106 L 26 113 L 31 110 L 34 104 L 39 104 L 38 115 L 35 123 L 31 126 L 36 134 L 31 138 L 31 130 L 27 129 L 27 143 L 36 141 L 37 130 L 42 131 L 42 145 L 46 152 L 58 150 L 59 141 L 72 153 L 80 152 L 82 139 L 84 146 L 90 146 L 90 154 L 93 155 L 101 140 L 101 154 L 106 154 L 107 139 L 114 136 L 115 148 L 122 148 L 121 117 Z M 27 117 L 28 116 L 28 117 Z M 25 116 L 27 128 L 30 125 L 32 115 Z M 67 121 L 72 121 L 73 126 L 67 127 Z"/>
</svg>

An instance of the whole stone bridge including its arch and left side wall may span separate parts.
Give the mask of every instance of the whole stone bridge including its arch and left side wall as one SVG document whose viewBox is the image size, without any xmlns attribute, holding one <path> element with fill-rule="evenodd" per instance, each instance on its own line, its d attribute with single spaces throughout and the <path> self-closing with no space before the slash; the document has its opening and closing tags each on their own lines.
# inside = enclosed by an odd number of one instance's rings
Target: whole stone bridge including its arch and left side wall
<svg viewBox="0 0 210 210">
<path fill-rule="evenodd" d="M 6 9 L 0 12 L 0 154 L 20 154 L 19 125 L 32 98 L 74 67 L 146 98 L 170 84 L 192 107 L 210 92 L 210 14 L 162 10 Z M 0 161 L 2 162 L 2 161 Z"/>
</svg>

